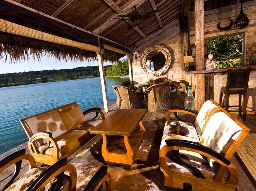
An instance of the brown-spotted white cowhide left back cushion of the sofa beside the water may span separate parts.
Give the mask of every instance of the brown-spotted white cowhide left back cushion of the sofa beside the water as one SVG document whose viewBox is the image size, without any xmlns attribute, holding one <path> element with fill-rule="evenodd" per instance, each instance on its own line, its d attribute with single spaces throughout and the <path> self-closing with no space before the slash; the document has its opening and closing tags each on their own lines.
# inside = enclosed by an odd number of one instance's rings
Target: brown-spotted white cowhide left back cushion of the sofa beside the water
<svg viewBox="0 0 256 191">
<path fill-rule="evenodd" d="M 56 110 L 39 113 L 31 118 L 25 119 L 24 123 L 32 134 L 47 131 L 52 133 L 53 138 L 67 131 L 63 120 Z M 38 142 L 42 145 L 46 143 L 46 140 Z"/>
</svg>

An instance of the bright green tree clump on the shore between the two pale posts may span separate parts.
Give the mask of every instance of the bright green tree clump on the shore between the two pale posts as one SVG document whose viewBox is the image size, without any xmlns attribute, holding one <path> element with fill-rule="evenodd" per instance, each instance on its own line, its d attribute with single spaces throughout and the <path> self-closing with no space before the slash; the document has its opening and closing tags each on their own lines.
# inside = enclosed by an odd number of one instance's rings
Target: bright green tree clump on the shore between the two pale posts
<svg viewBox="0 0 256 191">
<path fill-rule="evenodd" d="M 129 75 L 128 59 L 118 60 L 115 65 L 106 71 L 107 76 L 126 76 Z"/>
</svg>

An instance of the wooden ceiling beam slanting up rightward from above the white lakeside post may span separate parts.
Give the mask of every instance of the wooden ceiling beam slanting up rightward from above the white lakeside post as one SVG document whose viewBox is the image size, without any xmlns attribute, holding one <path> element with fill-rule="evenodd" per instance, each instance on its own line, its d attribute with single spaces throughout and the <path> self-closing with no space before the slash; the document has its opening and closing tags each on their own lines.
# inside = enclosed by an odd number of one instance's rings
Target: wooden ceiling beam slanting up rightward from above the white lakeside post
<svg viewBox="0 0 256 191">
<path fill-rule="evenodd" d="M 147 0 L 139 0 L 139 1 L 129 1 L 129 4 L 125 4 L 124 8 L 121 8 L 121 12 L 119 14 L 125 15 L 126 13 L 130 12 L 130 9 L 132 9 L 135 5 L 138 7 L 141 4 L 145 3 Z M 96 28 L 94 31 L 92 31 L 93 34 L 100 34 L 100 32 L 105 31 L 109 26 L 114 25 L 115 22 L 117 22 L 117 16 L 113 15 L 108 21 L 100 25 L 98 28 Z M 136 28 L 134 28 L 136 30 Z"/>
</svg>

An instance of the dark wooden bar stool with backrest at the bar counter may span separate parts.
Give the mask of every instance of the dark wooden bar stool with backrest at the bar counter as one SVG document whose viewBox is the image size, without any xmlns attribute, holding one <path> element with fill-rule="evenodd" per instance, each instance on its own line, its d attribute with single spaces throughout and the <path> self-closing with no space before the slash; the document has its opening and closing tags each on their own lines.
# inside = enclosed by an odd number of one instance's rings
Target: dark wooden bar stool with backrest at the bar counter
<svg viewBox="0 0 256 191">
<path fill-rule="evenodd" d="M 226 94 L 225 109 L 229 107 L 238 107 L 239 115 L 243 111 L 243 120 L 246 121 L 246 107 L 247 107 L 247 88 L 249 82 L 249 76 L 251 68 L 231 70 L 228 69 L 228 78 L 226 87 L 220 89 L 220 105 L 222 105 L 223 94 Z M 237 94 L 239 95 L 238 106 L 229 106 L 229 96 Z M 243 108 L 241 106 L 243 95 Z M 243 110 L 242 110 L 243 109 Z M 235 110 L 228 110 L 229 112 L 235 112 Z"/>
</svg>

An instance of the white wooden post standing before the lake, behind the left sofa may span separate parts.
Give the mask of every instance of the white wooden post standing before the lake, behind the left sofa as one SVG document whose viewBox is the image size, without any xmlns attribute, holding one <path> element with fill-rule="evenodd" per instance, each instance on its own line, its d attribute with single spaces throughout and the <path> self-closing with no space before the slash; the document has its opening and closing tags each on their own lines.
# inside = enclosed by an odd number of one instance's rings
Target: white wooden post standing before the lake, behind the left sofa
<svg viewBox="0 0 256 191">
<path fill-rule="evenodd" d="M 100 81 L 101 81 L 104 109 L 105 109 L 105 112 L 108 112 L 108 93 L 106 88 L 106 79 L 105 79 L 102 55 L 100 53 L 97 53 L 97 58 L 98 58 L 98 65 L 99 65 L 99 71 L 100 71 Z"/>
</svg>

